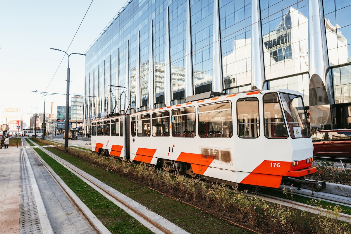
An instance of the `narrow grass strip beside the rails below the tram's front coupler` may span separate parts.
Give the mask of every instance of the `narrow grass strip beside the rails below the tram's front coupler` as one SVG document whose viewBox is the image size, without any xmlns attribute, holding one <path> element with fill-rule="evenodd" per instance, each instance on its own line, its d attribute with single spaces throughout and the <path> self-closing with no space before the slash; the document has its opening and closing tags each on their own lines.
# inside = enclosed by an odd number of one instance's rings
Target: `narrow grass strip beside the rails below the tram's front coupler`
<svg viewBox="0 0 351 234">
<path fill-rule="evenodd" d="M 289 198 L 287 198 L 287 196 L 284 193 L 282 193 L 282 191 L 277 191 L 277 190 L 268 190 L 268 189 L 266 190 L 266 189 L 264 189 L 264 190 L 261 191 L 261 193 L 266 194 L 266 195 L 275 196 L 275 197 L 278 197 L 278 198 L 293 200 L 293 201 L 304 203 L 304 204 L 307 204 L 307 205 L 310 205 L 311 200 L 312 200 L 312 198 L 306 198 L 305 196 L 301 196 L 301 195 L 294 194 L 294 193 L 293 193 L 292 198 L 291 198 L 291 194 L 288 194 Z M 318 193 L 315 193 L 315 196 L 316 196 L 315 199 L 318 201 Z M 327 202 L 327 201 L 323 201 L 323 200 L 320 200 L 319 204 L 322 205 L 322 207 L 339 206 L 343 210 L 342 213 L 351 215 L 351 207 L 349 207 L 349 206 L 338 205 L 338 204 Z"/>
</svg>

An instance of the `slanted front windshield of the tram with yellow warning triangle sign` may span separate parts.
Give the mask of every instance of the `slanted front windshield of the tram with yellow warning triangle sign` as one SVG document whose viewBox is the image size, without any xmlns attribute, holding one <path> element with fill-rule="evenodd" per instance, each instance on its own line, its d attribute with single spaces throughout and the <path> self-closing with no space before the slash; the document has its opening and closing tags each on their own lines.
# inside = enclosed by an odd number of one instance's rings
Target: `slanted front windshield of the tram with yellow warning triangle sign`
<svg viewBox="0 0 351 234">
<path fill-rule="evenodd" d="M 280 93 L 291 138 L 310 137 L 306 111 L 301 96 Z"/>
</svg>

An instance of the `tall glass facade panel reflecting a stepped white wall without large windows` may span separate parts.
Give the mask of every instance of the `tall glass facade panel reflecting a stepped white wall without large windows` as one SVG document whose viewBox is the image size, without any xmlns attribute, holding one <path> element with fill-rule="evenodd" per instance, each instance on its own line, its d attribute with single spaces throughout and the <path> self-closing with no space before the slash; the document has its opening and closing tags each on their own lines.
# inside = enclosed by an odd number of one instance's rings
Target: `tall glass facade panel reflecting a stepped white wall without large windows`
<svg viewBox="0 0 351 234">
<path fill-rule="evenodd" d="M 219 19 L 224 88 L 251 84 L 251 1 L 221 2 Z"/>
</svg>

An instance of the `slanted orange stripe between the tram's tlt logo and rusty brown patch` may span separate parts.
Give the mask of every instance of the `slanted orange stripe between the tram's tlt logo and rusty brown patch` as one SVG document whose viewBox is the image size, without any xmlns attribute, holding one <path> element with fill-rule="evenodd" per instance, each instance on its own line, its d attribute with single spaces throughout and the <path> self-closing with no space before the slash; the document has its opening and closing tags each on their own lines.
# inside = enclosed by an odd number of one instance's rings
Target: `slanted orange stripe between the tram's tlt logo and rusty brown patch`
<svg viewBox="0 0 351 234">
<path fill-rule="evenodd" d="M 177 161 L 190 163 L 194 173 L 203 175 L 215 158 L 214 155 L 181 152 Z"/>
</svg>

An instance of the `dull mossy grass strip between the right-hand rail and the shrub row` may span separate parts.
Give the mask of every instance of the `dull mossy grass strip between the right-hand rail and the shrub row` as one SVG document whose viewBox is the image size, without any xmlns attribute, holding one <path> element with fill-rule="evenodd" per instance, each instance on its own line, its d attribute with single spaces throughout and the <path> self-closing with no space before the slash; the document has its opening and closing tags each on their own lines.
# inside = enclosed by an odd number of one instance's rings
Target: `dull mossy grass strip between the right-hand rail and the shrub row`
<svg viewBox="0 0 351 234">
<path fill-rule="evenodd" d="M 47 150 L 139 202 L 141 205 L 146 206 L 189 233 L 251 233 L 246 229 L 234 226 L 229 222 L 223 221 L 222 219 L 188 206 L 180 201 L 170 199 L 154 190 L 150 190 L 121 176 L 115 175 L 89 162 L 75 158 L 54 148 L 48 148 Z"/>
</svg>

